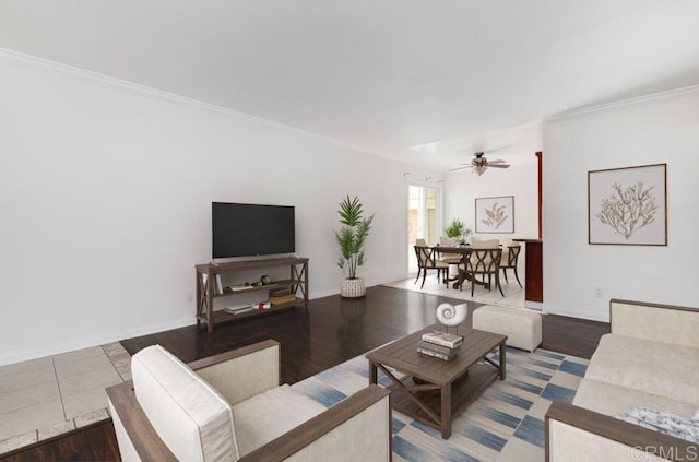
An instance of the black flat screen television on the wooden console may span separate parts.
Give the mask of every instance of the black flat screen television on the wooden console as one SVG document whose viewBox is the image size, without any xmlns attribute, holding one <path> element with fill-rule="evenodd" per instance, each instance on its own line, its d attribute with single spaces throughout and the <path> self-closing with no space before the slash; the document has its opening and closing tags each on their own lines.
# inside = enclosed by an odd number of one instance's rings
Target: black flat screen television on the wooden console
<svg viewBox="0 0 699 462">
<path fill-rule="evenodd" d="M 212 257 L 252 257 L 296 251 L 294 208 L 211 203 Z"/>
</svg>

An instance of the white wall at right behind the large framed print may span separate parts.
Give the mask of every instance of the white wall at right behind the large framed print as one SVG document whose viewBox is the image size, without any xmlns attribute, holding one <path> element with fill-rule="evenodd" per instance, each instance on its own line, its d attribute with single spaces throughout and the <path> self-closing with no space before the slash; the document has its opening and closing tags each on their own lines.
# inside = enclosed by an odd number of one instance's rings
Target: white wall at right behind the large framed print
<svg viewBox="0 0 699 462">
<path fill-rule="evenodd" d="M 662 96 L 545 123 L 548 311 L 606 321 L 609 298 L 699 307 L 699 91 Z M 659 163 L 667 164 L 667 246 L 588 245 L 588 171 Z"/>
</svg>

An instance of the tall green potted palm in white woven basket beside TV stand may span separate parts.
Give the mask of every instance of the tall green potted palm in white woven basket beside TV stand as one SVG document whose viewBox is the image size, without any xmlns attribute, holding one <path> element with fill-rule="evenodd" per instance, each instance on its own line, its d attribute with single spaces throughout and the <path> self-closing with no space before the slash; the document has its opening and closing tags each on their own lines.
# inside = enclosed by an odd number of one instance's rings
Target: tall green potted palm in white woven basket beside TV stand
<svg viewBox="0 0 699 462">
<path fill-rule="evenodd" d="M 342 282 L 340 294 L 346 298 L 363 297 L 366 285 L 362 277 L 357 277 L 357 269 L 365 262 L 364 245 L 371 229 L 374 214 L 364 217 L 364 210 L 359 198 L 350 196 L 340 202 L 340 230 L 335 230 L 335 240 L 340 247 L 337 266 L 346 270 L 347 277 Z"/>
</svg>

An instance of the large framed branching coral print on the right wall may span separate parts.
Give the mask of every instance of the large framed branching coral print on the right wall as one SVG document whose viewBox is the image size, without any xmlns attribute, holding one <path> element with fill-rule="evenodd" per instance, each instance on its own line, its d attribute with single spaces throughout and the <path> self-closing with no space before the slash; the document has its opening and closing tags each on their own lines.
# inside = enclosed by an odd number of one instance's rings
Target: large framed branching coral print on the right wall
<svg viewBox="0 0 699 462">
<path fill-rule="evenodd" d="M 667 246 L 667 164 L 588 171 L 588 244 Z"/>
</svg>

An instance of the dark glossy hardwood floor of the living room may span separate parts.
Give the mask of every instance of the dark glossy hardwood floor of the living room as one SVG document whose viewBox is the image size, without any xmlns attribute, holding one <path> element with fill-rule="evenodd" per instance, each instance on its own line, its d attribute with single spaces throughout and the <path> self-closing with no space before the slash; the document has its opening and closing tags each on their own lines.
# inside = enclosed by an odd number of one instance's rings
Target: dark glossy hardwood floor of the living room
<svg viewBox="0 0 699 462">
<path fill-rule="evenodd" d="M 241 322 L 215 325 L 208 333 L 196 325 L 123 340 L 134 354 L 159 343 L 185 362 L 191 362 L 265 339 L 282 344 L 282 381 L 295 383 L 394 339 L 437 322 L 435 308 L 442 301 L 462 303 L 384 286 L 370 287 L 367 296 L 346 300 L 318 298 L 308 309 L 295 308 Z M 477 309 L 479 304 L 470 304 Z M 543 318 L 543 347 L 589 358 L 608 324 L 558 316 Z M 471 322 L 471 310 L 467 323 Z M 111 422 L 54 438 L 0 458 L 7 461 L 119 460 Z"/>
</svg>

